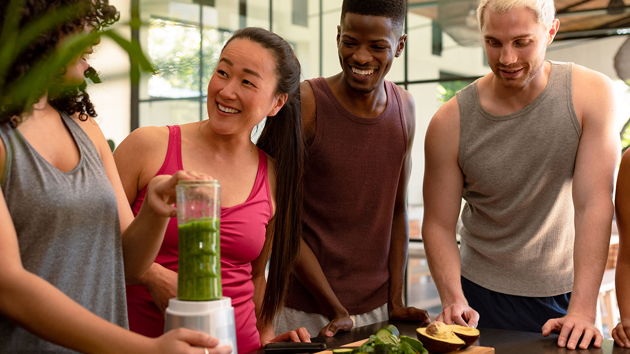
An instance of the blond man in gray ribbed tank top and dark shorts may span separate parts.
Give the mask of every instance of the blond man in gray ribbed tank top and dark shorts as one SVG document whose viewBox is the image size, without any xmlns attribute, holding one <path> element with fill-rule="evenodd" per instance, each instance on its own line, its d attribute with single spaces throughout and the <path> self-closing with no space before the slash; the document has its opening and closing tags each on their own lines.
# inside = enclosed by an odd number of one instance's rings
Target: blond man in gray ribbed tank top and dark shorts
<svg viewBox="0 0 630 354">
<path fill-rule="evenodd" d="M 429 124 L 422 237 L 438 319 L 599 347 L 593 323 L 620 151 L 614 94 L 599 72 L 544 60 L 559 27 L 553 6 L 481 0 L 493 72 Z"/>
</svg>

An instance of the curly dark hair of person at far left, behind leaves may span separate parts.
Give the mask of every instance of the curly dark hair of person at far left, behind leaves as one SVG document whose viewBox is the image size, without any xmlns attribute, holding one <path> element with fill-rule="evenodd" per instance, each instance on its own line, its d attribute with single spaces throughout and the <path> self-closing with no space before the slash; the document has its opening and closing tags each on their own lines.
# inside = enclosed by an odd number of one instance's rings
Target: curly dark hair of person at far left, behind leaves
<svg viewBox="0 0 630 354">
<path fill-rule="evenodd" d="M 14 1 L 1 1 L 0 31 L 4 28 L 5 22 L 8 21 L 6 15 L 9 12 L 11 3 L 14 3 Z M 6 73 L 4 88 L 9 88 L 11 84 L 23 79 L 28 72 L 37 67 L 39 62 L 50 57 L 59 46 L 62 38 L 84 31 L 85 28 L 90 28 L 92 31 L 100 31 L 120 18 L 117 9 L 110 5 L 108 0 L 25 0 L 23 3 L 18 25 L 18 31 L 20 32 L 42 18 L 42 16 L 57 13 L 57 11 L 62 9 L 69 9 L 71 20 L 56 26 L 53 30 L 40 33 L 35 40 L 16 55 L 16 59 L 10 64 Z M 0 32 L 1 35 L 2 33 Z M 49 103 L 68 115 L 79 113 L 79 119 L 81 120 L 87 120 L 88 116 L 96 117 L 94 105 L 89 100 L 88 93 L 86 93 L 87 83 L 84 81 L 79 86 L 62 86 L 60 83 L 62 83 L 61 77 L 63 74 L 63 70 L 50 74 L 49 82 L 51 84 L 47 88 Z M 93 67 L 88 67 L 84 72 L 84 76 L 93 83 L 100 83 L 98 74 Z M 45 93 L 45 91 L 42 91 L 40 96 L 43 96 Z M 0 123 L 11 122 L 16 127 L 21 123 L 23 115 L 32 109 L 32 107 L 25 105 L 25 101 L 4 102 L 0 106 Z"/>
</svg>

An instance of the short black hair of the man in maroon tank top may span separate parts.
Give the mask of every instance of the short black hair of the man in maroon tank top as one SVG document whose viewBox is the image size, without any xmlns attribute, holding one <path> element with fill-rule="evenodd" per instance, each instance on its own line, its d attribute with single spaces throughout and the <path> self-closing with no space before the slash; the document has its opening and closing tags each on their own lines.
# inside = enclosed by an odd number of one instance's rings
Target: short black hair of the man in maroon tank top
<svg viewBox="0 0 630 354">
<path fill-rule="evenodd" d="M 341 22 L 347 13 L 387 17 L 392 19 L 394 29 L 399 35 L 402 35 L 406 12 L 406 0 L 343 0 Z"/>
</svg>

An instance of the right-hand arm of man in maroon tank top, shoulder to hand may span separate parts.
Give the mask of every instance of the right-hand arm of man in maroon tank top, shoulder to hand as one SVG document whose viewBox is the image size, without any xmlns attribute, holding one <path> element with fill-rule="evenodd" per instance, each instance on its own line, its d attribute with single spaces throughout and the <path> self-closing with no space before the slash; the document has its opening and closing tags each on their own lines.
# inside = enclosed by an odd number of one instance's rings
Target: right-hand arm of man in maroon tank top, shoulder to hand
<svg viewBox="0 0 630 354">
<path fill-rule="evenodd" d="M 409 245 L 409 224 L 407 215 L 407 186 L 411 174 L 411 149 L 416 130 L 416 111 L 413 97 L 406 90 L 399 88 L 404 106 L 404 122 L 407 130 L 407 152 L 404 156 L 396 190 L 394 217 L 392 219 L 391 240 L 389 244 L 389 296 L 387 310 L 391 319 L 410 321 L 429 321 L 427 311 L 403 304 L 404 269 L 407 263 Z"/>
</svg>

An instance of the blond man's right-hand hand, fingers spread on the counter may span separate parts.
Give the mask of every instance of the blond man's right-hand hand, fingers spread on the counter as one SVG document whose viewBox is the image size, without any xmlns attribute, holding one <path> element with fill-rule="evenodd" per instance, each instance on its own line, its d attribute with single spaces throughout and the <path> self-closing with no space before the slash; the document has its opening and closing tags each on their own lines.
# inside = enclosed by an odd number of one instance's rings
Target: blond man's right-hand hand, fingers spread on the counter
<svg viewBox="0 0 630 354">
<path fill-rule="evenodd" d="M 558 346 L 567 349 L 574 350 L 580 341 L 580 348 L 586 349 L 590 345 L 591 340 L 595 338 L 593 346 L 600 348 L 604 337 L 597 329 L 593 322 L 586 316 L 575 312 L 567 313 L 566 316 L 560 318 L 553 318 L 547 321 L 542 326 L 542 336 L 548 336 L 550 333 L 559 334 Z"/>
</svg>

